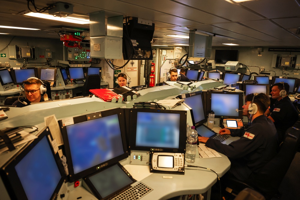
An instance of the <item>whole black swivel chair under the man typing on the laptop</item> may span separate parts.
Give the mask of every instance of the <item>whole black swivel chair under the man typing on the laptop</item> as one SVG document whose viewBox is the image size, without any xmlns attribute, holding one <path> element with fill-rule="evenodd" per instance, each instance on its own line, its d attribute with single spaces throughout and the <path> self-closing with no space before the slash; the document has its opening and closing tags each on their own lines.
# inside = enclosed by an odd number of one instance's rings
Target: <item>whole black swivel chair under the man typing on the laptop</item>
<svg viewBox="0 0 300 200">
<path fill-rule="evenodd" d="M 238 194 L 248 187 L 264 195 L 265 199 L 279 198 L 278 188 L 297 153 L 300 144 L 299 138 L 300 122 L 298 121 L 293 127 L 286 130 L 278 153 L 259 172 L 250 175 L 247 181 L 240 181 L 232 177 L 227 178 L 226 191 Z"/>
</svg>

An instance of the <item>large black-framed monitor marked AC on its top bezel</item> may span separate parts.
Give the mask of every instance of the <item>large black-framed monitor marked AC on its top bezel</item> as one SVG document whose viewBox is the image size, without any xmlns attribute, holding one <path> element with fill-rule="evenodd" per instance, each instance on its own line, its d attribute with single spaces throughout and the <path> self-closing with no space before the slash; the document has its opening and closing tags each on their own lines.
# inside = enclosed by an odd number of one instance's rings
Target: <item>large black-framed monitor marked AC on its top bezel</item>
<svg viewBox="0 0 300 200">
<path fill-rule="evenodd" d="M 59 121 L 71 182 L 128 157 L 124 120 L 116 108 Z"/>
</svg>

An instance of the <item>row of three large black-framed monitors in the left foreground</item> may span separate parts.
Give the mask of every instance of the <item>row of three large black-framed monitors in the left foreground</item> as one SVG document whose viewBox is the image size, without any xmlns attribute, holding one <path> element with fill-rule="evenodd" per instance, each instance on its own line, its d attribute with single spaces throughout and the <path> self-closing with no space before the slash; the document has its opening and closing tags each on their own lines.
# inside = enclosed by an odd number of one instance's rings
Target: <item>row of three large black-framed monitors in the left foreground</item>
<svg viewBox="0 0 300 200">
<path fill-rule="evenodd" d="M 164 152 L 185 152 L 186 111 L 116 108 L 76 116 L 73 121 L 67 126 L 58 121 L 70 182 L 102 172 L 127 158 L 128 146 L 141 151 L 159 148 Z M 58 194 L 66 176 L 50 138 L 46 127 L 38 139 L 26 144 L 1 167 L 1 179 L 10 199 L 48 200 Z"/>
</svg>

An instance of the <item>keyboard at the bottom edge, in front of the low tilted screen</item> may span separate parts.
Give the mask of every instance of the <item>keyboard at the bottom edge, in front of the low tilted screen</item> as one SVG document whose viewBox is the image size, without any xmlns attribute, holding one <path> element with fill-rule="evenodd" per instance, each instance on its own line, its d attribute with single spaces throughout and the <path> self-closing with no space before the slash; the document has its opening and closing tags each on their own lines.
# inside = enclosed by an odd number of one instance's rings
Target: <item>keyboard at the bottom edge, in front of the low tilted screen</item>
<svg viewBox="0 0 300 200">
<path fill-rule="evenodd" d="M 145 196 L 152 190 L 153 190 L 152 188 L 146 186 L 145 184 L 138 183 L 138 184 L 128 188 L 127 190 L 125 190 L 124 192 L 119 194 L 118 196 L 113 197 L 112 199 L 113 200 L 128 200 L 128 199 L 137 200 L 137 199 L 142 198 L 143 196 Z"/>
</svg>

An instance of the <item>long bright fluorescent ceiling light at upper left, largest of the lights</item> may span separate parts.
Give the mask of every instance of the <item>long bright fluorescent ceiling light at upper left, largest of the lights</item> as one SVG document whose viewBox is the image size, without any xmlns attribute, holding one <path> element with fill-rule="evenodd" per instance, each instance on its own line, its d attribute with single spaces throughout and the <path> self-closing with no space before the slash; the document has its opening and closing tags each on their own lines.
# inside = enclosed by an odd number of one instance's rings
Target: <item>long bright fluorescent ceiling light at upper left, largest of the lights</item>
<svg viewBox="0 0 300 200">
<path fill-rule="evenodd" d="M 88 19 L 80 19 L 76 17 L 55 17 L 53 15 L 45 14 L 45 13 L 26 13 L 24 14 L 26 16 L 32 16 L 32 17 L 38 17 L 38 18 L 43 18 L 43 19 L 50 19 L 50 20 L 55 20 L 55 21 L 61 21 L 61 22 L 69 22 L 69 23 L 75 23 L 75 24 L 89 24 L 90 21 Z"/>
</svg>

